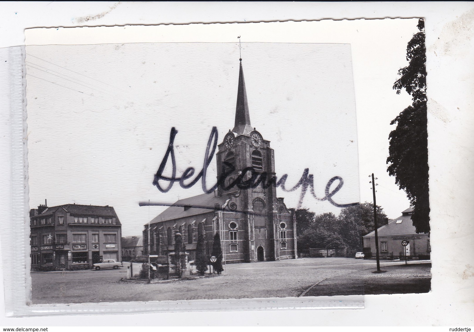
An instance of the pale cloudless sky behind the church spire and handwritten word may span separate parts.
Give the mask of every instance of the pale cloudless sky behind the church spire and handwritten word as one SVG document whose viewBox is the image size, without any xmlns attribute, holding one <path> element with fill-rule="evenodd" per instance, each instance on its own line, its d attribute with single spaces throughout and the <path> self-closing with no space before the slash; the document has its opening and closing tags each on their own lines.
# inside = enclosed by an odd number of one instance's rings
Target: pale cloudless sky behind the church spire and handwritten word
<svg viewBox="0 0 474 332">
<path fill-rule="evenodd" d="M 271 141 L 277 176 L 288 174 L 289 187 L 309 168 L 319 197 L 328 179 L 340 176 L 344 186 L 333 198 L 347 204 L 372 201 L 374 172 L 377 204 L 397 217 L 409 203 L 386 172 L 387 138 L 410 96 L 396 95 L 392 84 L 407 64 L 417 20 L 384 21 L 377 31 L 369 21 L 347 27 L 355 36 L 344 44 L 27 46 L 30 207 L 45 198 L 48 206 L 114 206 L 128 236 L 164 209 L 139 201 L 201 194 L 199 183 L 161 193 L 153 175 L 172 126 L 178 174 L 201 170 L 212 126 L 220 143 L 234 125 L 242 56 L 251 124 Z M 209 183 L 215 172 L 214 160 Z M 300 190 L 277 194 L 295 207 Z M 340 212 L 309 193 L 302 205 Z"/>
</svg>

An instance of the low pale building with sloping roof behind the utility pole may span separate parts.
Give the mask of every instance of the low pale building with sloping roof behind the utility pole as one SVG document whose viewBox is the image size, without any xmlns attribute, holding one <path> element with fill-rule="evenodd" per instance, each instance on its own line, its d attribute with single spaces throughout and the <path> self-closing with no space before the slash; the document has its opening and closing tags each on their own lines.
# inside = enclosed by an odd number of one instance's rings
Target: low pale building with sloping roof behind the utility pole
<svg viewBox="0 0 474 332">
<path fill-rule="evenodd" d="M 416 233 L 411 215 L 413 208 L 402 211 L 401 216 L 377 229 L 379 253 L 381 256 L 430 256 L 429 233 Z M 371 252 L 375 256 L 375 231 L 363 236 L 364 252 Z M 404 247 L 402 242 L 406 241 Z"/>
</svg>

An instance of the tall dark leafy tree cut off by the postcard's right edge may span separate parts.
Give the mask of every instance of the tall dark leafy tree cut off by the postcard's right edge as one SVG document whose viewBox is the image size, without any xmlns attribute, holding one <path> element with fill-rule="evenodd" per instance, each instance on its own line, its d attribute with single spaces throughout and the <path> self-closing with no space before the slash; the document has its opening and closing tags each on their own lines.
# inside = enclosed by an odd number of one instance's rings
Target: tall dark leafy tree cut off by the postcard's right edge
<svg viewBox="0 0 474 332">
<path fill-rule="evenodd" d="M 418 21 L 419 32 L 407 46 L 409 65 L 401 68 L 401 76 L 393 85 L 397 94 L 405 89 L 413 103 L 390 123 L 397 124 L 389 135 L 387 171 L 395 176 L 395 183 L 405 190 L 413 206 L 411 220 L 417 233 L 428 233 L 428 118 L 426 97 L 426 47 L 424 20 Z"/>
</svg>

